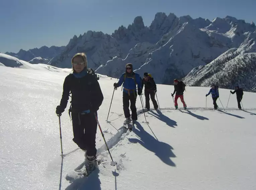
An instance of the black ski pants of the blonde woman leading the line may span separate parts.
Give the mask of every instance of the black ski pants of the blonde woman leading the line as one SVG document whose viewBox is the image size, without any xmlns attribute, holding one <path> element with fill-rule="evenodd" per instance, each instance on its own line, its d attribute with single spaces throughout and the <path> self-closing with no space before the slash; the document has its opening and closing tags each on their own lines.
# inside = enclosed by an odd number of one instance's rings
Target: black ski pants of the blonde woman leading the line
<svg viewBox="0 0 256 190">
<path fill-rule="evenodd" d="M 97 114 L 97 113 L 96 113 Z M 79 148 L 87 151 L 87 156 L 96 156 L 97 121 L 93 113 L 71 113 L 73 124 L 73 141 Z"/>
</svg>

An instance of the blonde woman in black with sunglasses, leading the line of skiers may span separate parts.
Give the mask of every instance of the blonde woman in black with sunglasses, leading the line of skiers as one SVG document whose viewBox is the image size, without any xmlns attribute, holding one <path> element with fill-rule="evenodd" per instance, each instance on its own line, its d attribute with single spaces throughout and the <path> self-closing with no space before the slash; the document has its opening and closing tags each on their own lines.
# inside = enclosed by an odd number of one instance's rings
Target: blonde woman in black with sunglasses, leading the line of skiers
<svg viewBox="0 0 256 190">
<path fill-rule="evenodd" d="M 69 112 L 72 116 L 73 141 L 85 151 L 87 174 L 97 168 L 96 160 L 96 131 L 97 121 L 94 113 L 103 101 L 103 94 L 92 69 L 87 69 L 87 58 L 84 53 L 74 55 L 71 60 L 73 73 L 69 74 L 63 84 L 63 93 L 60 105 L 56 107 L 56 114 L 61 116 L 67 107 L 71 92 L 71 106 Z"/>
</svg>

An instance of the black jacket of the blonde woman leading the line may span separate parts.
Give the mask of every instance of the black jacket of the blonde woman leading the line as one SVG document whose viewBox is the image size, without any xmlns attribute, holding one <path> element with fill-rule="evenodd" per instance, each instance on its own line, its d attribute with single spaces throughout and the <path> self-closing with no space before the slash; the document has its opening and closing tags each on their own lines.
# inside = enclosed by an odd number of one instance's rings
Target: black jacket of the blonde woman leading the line
<svg viewBox="0 0 256 190">
<path fill-rule="evenodd" d="M 96 112 L 103 101 L 103 94 L 95 74 L 87 73 L 82 78 L 76 78 L 72 73 L 65 78 L 60 103 L 63 110 L 67 107 L 70 92 L 72 94 L 71 112 L 85 110 Z"/>
</svg>

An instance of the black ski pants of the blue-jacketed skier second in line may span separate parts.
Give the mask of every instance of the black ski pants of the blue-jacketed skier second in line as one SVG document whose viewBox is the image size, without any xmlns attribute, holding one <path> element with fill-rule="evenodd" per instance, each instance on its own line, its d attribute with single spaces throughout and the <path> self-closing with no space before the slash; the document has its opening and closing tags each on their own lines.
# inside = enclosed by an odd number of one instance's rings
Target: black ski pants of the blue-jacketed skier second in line
<svg viewBox="0 0 256 190">
<path fill-rule="evenodd" d="M 131 102 L 131 111 L 132 111 L 132 119 L 137 120 L 138 115 L 137 115 L 137 108 L 136 108 L 136 98 L 137 98 L 137 92 L 133 91 L 130 92 L 130 95 L 126 92 L 123 92 L 123 112 L 125 118 L 130 117 L 130 110 L 129 110 L 129 105 Z"/>
</svg>

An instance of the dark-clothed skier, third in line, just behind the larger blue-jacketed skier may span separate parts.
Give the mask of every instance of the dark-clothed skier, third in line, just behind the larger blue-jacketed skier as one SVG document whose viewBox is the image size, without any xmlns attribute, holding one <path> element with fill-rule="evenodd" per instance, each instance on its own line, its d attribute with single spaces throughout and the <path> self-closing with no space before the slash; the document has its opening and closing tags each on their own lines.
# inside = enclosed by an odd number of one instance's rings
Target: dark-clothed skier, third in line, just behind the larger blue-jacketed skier
<svg viewBox="0 0 256 190">
<path fill-rule="evenodd" d="M 147 111 L 149 111 L 150 108 L 150 104 L 149 104 L 149 95 L 151 97 L 151 100 L 153 102 L 154 105 L 154 109 L 157 110 L 158 109 L 158 105 L 157 105 L 157 101 L 155 99 L 155 94 L 157 92 L 157 88 L 156 88 L 156 83 L 154 81 L 154 78 L 148 74 L 148 73 L 144 73 L 144 78 L 142 79 L 142 87 L 141 90 L 143 89 L 143 86 L 145 84 L 145 99 L 146 99 L 146 105 L 145 108 L 147 109 Z"/>
</svg>

